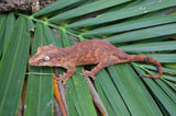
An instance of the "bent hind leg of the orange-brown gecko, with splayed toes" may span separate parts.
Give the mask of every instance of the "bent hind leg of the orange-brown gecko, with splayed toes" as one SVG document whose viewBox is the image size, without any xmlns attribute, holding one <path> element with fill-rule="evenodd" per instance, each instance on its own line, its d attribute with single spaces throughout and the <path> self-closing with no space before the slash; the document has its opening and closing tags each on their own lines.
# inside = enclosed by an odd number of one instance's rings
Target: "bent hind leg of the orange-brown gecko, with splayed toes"
<svg viewBox="0 0 176 116">
<path fill-rule="evenodd" d="M 92 78 L 92 80 L 96 80 L 95 76 L 103 68 L 108 67 L 108 66 L 112 66 L 114 63 L 118 63 L 119 59 L 117 57 L 111 57 L 109 56 L 108 58 L 106 58 L 105 60 L 102 60 L 101 62 L 99 62 L 91 71 L 88 70 L 84 70 L 82 69 L 82 73 L 79 73 L 80 76 L 85 76 L 85 77 L 90 77 Z"/>
</svg>

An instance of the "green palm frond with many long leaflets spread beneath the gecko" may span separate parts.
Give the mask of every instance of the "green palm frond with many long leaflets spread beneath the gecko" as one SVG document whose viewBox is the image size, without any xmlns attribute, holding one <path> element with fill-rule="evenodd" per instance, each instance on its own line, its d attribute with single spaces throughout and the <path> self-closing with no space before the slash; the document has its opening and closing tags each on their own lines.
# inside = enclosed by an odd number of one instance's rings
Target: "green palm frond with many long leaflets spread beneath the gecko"
<svg viewBox="0 0 176 116">
<path fill-rule="evenodd" d="M 125 53 L 154 57 L 164 67 L 160 79 L 139 77 L 157 72 L 147 63 L 102 69 L 94 84 L 110 116 L 175 115 L 175 9 L 176 0 L 58 0 L 31 15 L 0 14 L 0 115 L 16 114 L 26 69 L 41 73 L 53 71 L 41 67 L 29 69 L 29 55 L 34 55 L 41 45 L 72 46 L 73 38 L 103 38 Z M 34 38 L 30 47 L 32 30 Z M 65 86 L 69 115 L 95 116 L 87 82 L 78 76 L 81 68 L 77 67 Z M 29 76 L 25 101 L 26 116 L 52 115 L 52 76 Z"/>
</svg>

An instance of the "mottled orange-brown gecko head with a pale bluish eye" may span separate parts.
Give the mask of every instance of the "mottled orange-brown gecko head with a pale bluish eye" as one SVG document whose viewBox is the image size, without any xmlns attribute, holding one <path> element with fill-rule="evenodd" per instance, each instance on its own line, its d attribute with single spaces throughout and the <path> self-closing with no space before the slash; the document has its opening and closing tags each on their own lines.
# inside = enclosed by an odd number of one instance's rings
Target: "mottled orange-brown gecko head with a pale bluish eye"
<svg viewBox="0 0 176 116">
<path fill-rule="evenodd" d="M 57 48 L 53 44 L 40 46 L 37 53 L 30 58 L 29 63 L 31 66 L 59 67 L 64 53 L 64 48 Z"/>
</svg>

